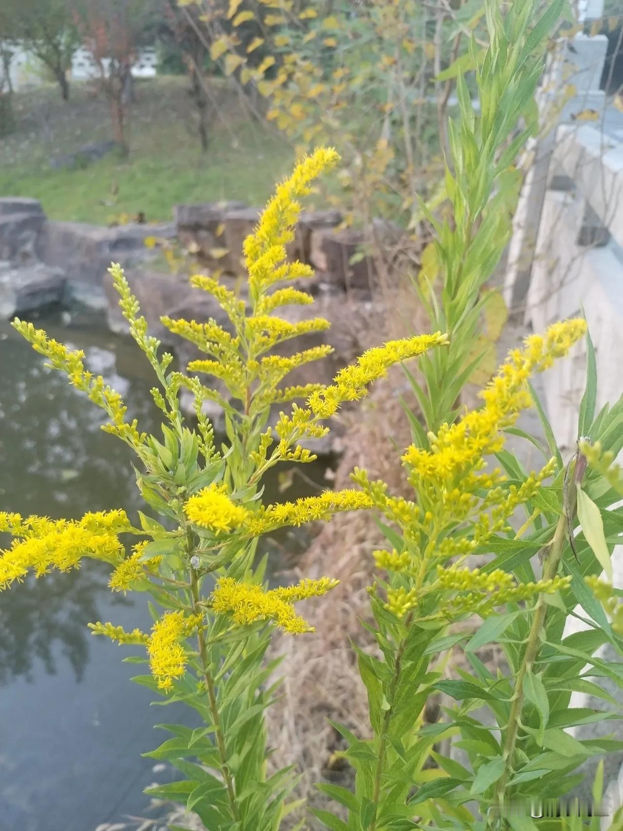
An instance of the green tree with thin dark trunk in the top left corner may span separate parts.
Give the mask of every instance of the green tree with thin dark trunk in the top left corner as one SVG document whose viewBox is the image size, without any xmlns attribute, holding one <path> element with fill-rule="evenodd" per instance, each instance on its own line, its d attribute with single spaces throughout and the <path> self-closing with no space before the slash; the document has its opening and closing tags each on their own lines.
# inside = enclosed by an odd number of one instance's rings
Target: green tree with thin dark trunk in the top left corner
<svg viewBox="0 0 623 831">
<path fill-rule="evenodd" d="M 68 0 L 2 0 L 0 31 L 42 61 L 67 101 L 67 71 L 80 45 Z"/>
</svg>

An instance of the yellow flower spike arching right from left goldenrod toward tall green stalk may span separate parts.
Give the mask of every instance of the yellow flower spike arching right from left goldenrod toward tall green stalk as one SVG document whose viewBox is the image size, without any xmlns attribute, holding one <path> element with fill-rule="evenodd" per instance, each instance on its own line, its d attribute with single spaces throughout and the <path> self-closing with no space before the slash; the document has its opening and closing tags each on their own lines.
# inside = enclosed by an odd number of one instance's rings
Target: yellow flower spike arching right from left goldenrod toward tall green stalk
<svg viewBox="0 0 623 831">
<path fill-rule="evenodd" d="M 356 364 L 346 366 L 337 373 L 334 384 L 313 393 L 307 399 L 307 406 L 317 418 L 329 418 L 344 401 L 359 401 L 367 395 L 368 386 L 379 378 L 385 378 L 390 366 L 447 343 L 447 335 L 435 332 L 434 335 L 388 341 L 383 347 L 368 349 Z"/>
</svg>

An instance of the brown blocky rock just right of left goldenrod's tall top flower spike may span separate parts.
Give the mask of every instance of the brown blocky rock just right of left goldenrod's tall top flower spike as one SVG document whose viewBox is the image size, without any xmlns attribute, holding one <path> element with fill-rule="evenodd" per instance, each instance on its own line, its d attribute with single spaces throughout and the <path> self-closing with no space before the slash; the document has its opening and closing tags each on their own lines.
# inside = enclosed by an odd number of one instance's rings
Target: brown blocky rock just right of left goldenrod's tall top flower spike
<svg viewBox="0 0 623 831">
<path fill-rule="evenodd" d="M 371 292 L 375 284 L 374 263 L 370 257 L 361 256 L 363 235 L 351 229 L 312 230 L 310 259 L 315 268 L 331 275 L 331 283 L 346 288 L 365 289 Z"/>
</svg>

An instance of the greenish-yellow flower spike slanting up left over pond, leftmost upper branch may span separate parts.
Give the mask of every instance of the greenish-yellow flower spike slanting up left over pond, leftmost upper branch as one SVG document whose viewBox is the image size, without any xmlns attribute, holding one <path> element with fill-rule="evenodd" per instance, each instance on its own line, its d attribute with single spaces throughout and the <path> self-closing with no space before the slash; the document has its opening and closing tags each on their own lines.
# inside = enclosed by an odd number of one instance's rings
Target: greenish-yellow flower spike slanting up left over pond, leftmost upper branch
<svg viewBox="0 0 623 831">
<path fill-rule="evenodd" d="M 118 435 L 130 445 L 142 444 L 145 436 L 140 435 L 137 430 L 138 422 L 136 420 L 130 423 L 125 421 L 127 407 L 119 393 L 105 384 L 101 375 L 94 376 L 91 372 L 86 371 L 82 363 L 82 358 L 85 356 L 84 352 L 67 349 L 62 343 L 47 337 L 43 329 L 36 329 L 32 323 L 25 323 L 17 317 L 11 325 L 22 337 L 32 343 L 32 348 L 36 352 L 47 357 L 49 361 L 47 366 L 65 372 L 71 386 L 85 392 L 94 404 L 105 410 L 110 417 L 110 424 L 103 425 L 102 430 Z"/>
</svg>

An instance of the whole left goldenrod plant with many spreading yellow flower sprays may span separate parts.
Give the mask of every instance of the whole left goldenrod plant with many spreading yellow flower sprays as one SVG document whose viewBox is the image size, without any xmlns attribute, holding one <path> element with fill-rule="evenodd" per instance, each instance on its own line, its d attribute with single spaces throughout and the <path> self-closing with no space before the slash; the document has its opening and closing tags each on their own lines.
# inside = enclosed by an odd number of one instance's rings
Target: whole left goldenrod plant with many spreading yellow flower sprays
<svg viewBox="0 0 623 831">
<path fill-rule="evenodd" d="M 287 796 L 296 779 L 287 769 L 267 772 L 263 712 L 276 688 L 267 687 L 275 662 L 266 663 L 264 655 L 277 628 L 292 635 L 311 632 L 297 604 L 325 595 L 337 583 L 331 578 L 303 579 L 295 586 L 267 590 L 265 563 L 258 564 L 256 558 L 258 538 L 372 504 L 361 489 L 346 489 L 262 505 L 262 476 L 284 461 L 314 460 L 302 442 L 326 435 L 324 420 L 343 402 L 365 396 L 392 364 L 448 343 L 441 332 L 391 341 L 365 352 L 330 386 L 282 386 L 293 369 L 331 352 L 331 347 L 314 347 L 280 356 L 276 350 L 283 342 L 322 332 L 329 324 L 318 317 L 292 324 L 275 312 L 288 304 L 313 302 L 308 293 L 287 285 L 312 277 L 309 266 L 288 260 L 287 244 L 300 212 L 297 200 L 337 158 L 334 150 L 320 148 L 277 187 L 244 243 L 248 300 L 209 276 L 192 278 L 198 290 L 218 301 L 228 327 L 213 320 L 162 318 L 171 332 L 203 353 L 190 362 L 191 374 L 171 371 L 173 357 L 161 352 L 159 341 L 149 335 L 123 270 L 119 265 L 110 268 L 132 337 L 158 381 L 151 394 L 163 414 L 161 439 L 126 419 L 125 403 L 86 368 L 82 352 L 53 341 L 32 323 L 13 322 L 47 358 L 47 366 L 65 372 L 71 386 L 105 411 L 103 429 L 135 451 L 136 481 L 152 515 L 140 513 L 131 521 L 118 510 L 53 520 L 2 513 L 0 531 L 12 534 L 13 542 L 0 555 L 0 589 L 22 582 L 29 573 L 42 577 L 52 568 L 78 568 L 87 557 L 110 565 L 112 591 L 145 591 L 155 598 L 162 611 L 151 632 L 125 632 L 110 622 L 94 622 L 91 628 L 115 642 L 145 646 L 150 675 L 136 681 L 186 702 L 202 717 L 204 726 L 198 730 L 169 725 L 173 738 L 151 755 L 169 760 L 184 774 L 175 793 L 184 794 L 183 803 L 209 829 L 272 831 L 287 814 Z M 204 383 L 206 376 L 212 386 Z M 182 387 L 194 396 L 194 427 L 179 406 Z M 218 401 L 225 413 L 228 441 L 222 450 L 217 450 L 204 415 L 208 400 Z M 302 403 L 289 403 L 297 400 Z M 267 427 L 276 404 L 284 410 L 277 424 Z M 163 518 L 162 524 L 155 515 Z M 128 551 L 123 540 L 129 535 L 141 539 Z M 166 788 L 150 793 L 171 795 Z"/>
</svg>

